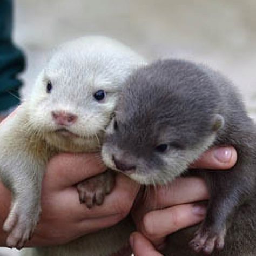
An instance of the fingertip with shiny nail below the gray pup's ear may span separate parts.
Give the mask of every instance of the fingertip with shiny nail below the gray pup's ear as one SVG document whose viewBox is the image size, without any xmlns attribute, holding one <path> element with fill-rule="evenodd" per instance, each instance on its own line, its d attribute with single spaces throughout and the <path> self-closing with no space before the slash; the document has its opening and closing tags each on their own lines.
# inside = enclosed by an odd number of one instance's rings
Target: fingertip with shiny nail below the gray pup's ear
<svg viewBox="0 0 256 256">
<path fill-rule="evenodd" d="M 225 170 L 232 168 L 237 162 L 237 151 L 233 147 L 213 147 L 203 153 L 191 168 Z"/>
</svg>

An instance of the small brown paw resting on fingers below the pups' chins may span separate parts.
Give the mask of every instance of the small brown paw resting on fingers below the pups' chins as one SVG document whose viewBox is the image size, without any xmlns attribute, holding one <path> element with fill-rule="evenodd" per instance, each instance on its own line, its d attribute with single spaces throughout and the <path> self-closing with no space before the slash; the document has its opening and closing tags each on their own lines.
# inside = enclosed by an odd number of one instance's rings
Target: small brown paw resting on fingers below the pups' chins
<svg viewBox="0 0 256 256">
<path fill-rule="evenodd" d="M 80 203 L 85 203 L 89 209 L 95 204 L 102 205 L 105 195 L 109 194 L 114 187 L 114 177 L 114 172 L 107 170 L 78 183 L 77 191 Z"/>
</svg>

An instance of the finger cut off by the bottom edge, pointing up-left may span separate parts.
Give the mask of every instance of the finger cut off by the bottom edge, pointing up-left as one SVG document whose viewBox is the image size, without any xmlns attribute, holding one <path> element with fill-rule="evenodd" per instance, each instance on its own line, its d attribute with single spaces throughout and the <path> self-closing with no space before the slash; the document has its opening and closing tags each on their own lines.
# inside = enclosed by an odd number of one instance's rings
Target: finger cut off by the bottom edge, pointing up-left
<svg viewBox="0 0 256 256">
<path fill-rule="evenodd" d="M 161 256 L 149 240 L 141 233 L 134 232 L 130 236 L 130 244 L 135 256 Z"/>
</svg>

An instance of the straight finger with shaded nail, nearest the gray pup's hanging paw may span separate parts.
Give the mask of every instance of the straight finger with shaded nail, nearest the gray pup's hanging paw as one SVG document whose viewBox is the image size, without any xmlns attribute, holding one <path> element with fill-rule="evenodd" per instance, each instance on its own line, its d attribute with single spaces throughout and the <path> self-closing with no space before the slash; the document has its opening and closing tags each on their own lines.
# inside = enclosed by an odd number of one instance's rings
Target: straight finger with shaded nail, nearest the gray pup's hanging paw
<svg viewBox="0 0 256 256">
<path fill-rule="evenodd" d="M 147 213 L 140 228 L 153 244 L 158 245 L 166 235 L 202 221 L 205 213 L 204 203 L 176 205 Z"/>
</svg>

